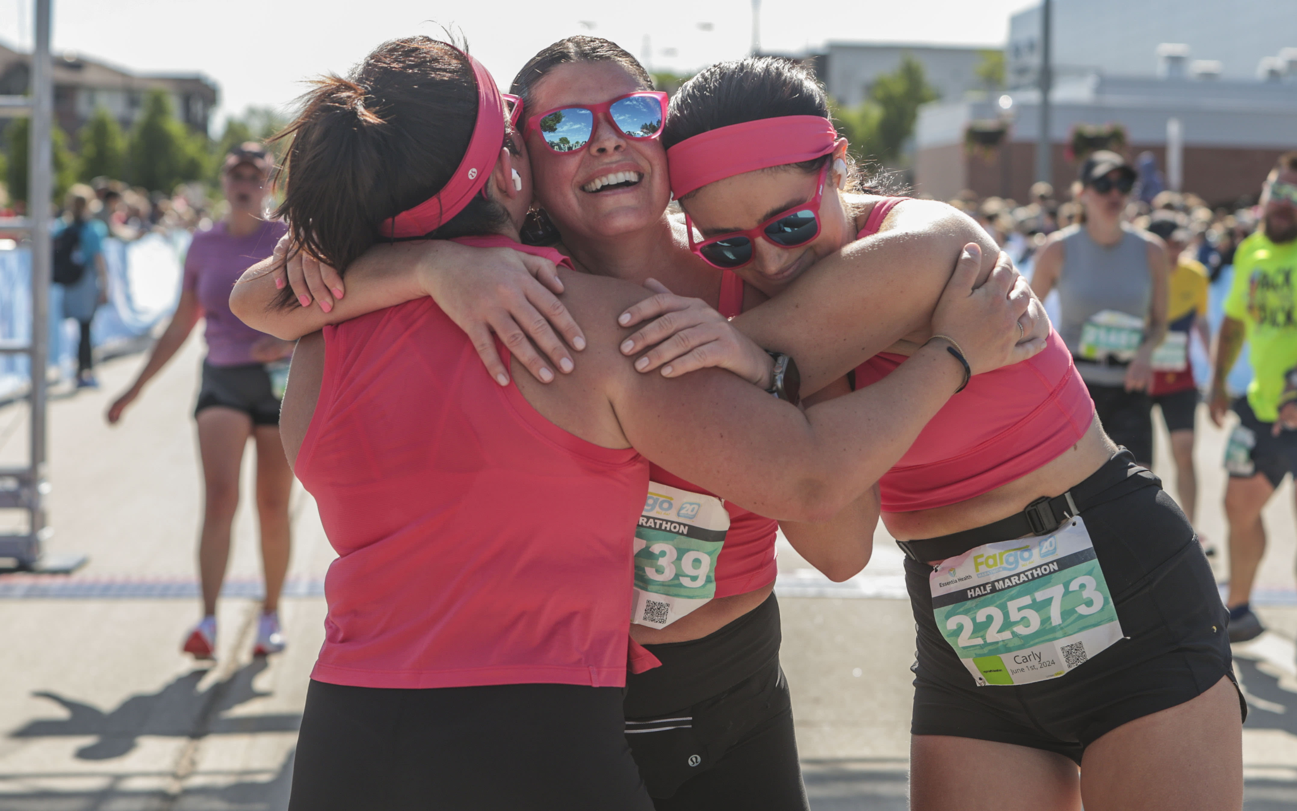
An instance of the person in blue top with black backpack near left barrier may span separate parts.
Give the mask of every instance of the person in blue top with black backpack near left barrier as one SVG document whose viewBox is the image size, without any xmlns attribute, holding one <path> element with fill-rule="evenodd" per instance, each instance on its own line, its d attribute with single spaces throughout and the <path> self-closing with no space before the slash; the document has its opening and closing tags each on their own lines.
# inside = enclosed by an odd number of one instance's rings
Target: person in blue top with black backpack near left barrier
<svg viewBox="0 0 1297 811">
<path fill-rule="evenodd" d="M 80 324 L 77 344 L 77 388 L 99 388 L 95 357 L 91 352 L 89 324 L 95 310 L 108 302 L 108 266 L 104 265 L 104 239 L 108 228 L 91 215 L 95 189 L 82 183 L 67 189 L 64 215 L 53 231 L 53 278 L 64 288 L 64 317 Z"/>
</svg>

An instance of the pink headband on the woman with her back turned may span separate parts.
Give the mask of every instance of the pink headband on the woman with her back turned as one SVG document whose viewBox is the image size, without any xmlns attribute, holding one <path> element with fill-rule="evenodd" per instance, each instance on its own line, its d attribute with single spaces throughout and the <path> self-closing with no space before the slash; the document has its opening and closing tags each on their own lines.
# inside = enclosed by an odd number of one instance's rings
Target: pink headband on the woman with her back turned
<svg viewBox="0 0 1297 811">
<path fill-rule="evenodd" d="M 399 239 L 436 231 L 464 210 L 473 195 L 486 186 L 492 169 L 499 161 L 499 149 L 505 145 L 505 100 L 482 64 L 467 53 L 464 57 L 473 66 L 473 77 L 477 79 L 477 123 L 473 126 L 473 136 L 468 139 L 468 151 L 440 192 L 412 209 L 383 221 L 384 236 Z"/>
</svg>

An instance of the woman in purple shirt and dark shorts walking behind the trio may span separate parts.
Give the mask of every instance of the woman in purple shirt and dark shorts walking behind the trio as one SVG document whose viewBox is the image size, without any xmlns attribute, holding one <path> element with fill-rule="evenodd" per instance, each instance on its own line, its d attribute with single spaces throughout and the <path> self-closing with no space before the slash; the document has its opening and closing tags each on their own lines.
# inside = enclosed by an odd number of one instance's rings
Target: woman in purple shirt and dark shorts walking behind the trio
<svg viewBox="0 0 1297 811">
<path fill-rule="evenodd" d="M 226 156 L 222 188 L 230 213 L 209 231 L 193 235 L 184 261 L 184 284 L 171 323 L 153 346 L 131 388 L 108 410 L 117 423 L 153 375 L 158 374 L 206 318 L 208 357 L 193 409 L 198 423 L 205 506 L 198 539 L 202 620 L 185 636 L 183 650 L 214 658 L 217 596 L 230 559 L 230 531 L 239 506 L 239 471 L 250 436 L 257 444 L 257 515 L 266 601 L 257 627 L 257 655 L 284 649 L 279 593 L 288 571 L 288 497 L 293 471 L 279 441 L 279 401 L 288 379 L 293 344 L 257 332 L 230 313 L 230 289 L 249 265 L 268 257 L 287 227 L 263 218 L 271 158 L 254 141 Z"/>
</svg>

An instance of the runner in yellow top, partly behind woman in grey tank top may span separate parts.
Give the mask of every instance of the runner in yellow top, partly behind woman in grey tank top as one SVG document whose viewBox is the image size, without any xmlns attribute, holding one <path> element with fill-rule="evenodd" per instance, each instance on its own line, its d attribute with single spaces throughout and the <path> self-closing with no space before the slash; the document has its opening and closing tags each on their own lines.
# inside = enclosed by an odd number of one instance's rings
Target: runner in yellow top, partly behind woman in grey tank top
<svg viewBox="0 0 1297 811">
<path fill-rule="evenodd" d="M 1192 235 L 1175 217 L 1158 217 L 1148 230 L 1166 243 L 1167 275 L 1166 340 L 1153 353 L 1153 387 L 1149 393 L 1162 409 L 1175 458 L 1175 494 L 1180 509 L 1193 522 L 1198 501 L 1198 476 L 1193 468 L 1193 418 L 1198 409 L 1198 384 L 1189 363 L 1191 336 L 1211 346 L 1208 324 L 1208 269 L 1187 253 Z M 1201 535 L 1198 541 L 1206 546 Z M 1210 551 L 1208 554 L 1211 554 Z"/>
</svg>

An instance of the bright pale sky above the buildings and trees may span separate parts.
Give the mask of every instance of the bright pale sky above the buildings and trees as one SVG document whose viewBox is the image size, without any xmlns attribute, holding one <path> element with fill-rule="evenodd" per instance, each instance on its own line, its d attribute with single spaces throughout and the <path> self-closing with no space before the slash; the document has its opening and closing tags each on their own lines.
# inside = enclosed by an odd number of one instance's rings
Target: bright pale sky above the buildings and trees
<svg viewBox="0 0 1297 811">
<path fill-rule="evenodd" d="M 0 40 L 31 47 L 32 0 L 0 0 Z M 285 112 L 322 73 L 345 73 L 379 43 L 453 26 L 501 86 L 572 34 L 619 43 L 650 70 L 693 71 L 748 52 L 752 0 L 53 0 L 53 48 L 140 73 L 201 73 L 220 86 L 213 118 Z M 826 40 L 1000 45 L 1009 16 L 1038 0 L 761 0 L 761 48 Z"/>
</svg>

